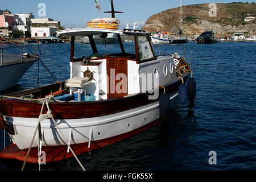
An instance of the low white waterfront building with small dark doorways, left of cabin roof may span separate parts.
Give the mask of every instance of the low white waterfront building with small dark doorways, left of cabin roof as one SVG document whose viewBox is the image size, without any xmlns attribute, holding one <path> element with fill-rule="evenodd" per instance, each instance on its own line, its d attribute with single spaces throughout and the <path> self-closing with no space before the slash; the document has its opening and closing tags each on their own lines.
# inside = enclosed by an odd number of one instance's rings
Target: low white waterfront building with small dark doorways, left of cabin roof
<svg viewBox="0 0 256 182">
<path fill-rule="evenodd" d="M 43 38 L 47 36 L 56 36 L 55 27 L 31 27 L 31 37 L 32 38 Z"/>
</svg>

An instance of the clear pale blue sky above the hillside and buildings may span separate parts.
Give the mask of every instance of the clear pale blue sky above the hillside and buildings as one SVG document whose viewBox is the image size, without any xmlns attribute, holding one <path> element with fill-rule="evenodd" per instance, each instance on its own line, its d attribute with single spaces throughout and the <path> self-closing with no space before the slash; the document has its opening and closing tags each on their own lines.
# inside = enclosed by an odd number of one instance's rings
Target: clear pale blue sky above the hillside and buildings
<svg viewBox="0 0 256 182">
<path fill-rule="evenodd" d="M 96 9 L 95 0 L 9 0 L 2 1 L 0 10 L 10 10 L 11 13 L 32 13 L 35 18 L 52 18 L 60 21 L 65 28 L 87 27 L 86 23 L 93 18 L 110 18 L 111 14 L 103 13 L 110 11 L 110 0 L 98 0 L 101 11 Z M 114 10 L 122 11 L 122 14 L 115 14 L 115 18 L 120 21 L 120 27 L 133 28 L 133 23 L 137 23 L 138 29 L 143 26 L 151 15 L 164 10 L 180 7 L 180 0 L 114 0 Z M 242 0 L 183 0 L 182 5 L 195 5 L 201 3 L 230 3 L 230 2 L 255 2 Z M 45 16 L 42 14 L 42 6 L 46 7 Z M 38 14 L 39 13 L 39 14 Z"/>
</svg>

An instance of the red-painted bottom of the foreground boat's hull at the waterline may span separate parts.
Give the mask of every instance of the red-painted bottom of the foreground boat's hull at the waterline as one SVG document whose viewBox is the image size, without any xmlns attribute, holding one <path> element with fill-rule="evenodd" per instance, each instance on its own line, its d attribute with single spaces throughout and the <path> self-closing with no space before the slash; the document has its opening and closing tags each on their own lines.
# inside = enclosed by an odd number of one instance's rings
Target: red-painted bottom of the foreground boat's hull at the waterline
<svg viewBox="0 0 256 182">
<path fill-rule="evenodd" d="M 117 135 L 111 138 L 92 141 L 90 143 L 90 148 L 88 148 L 88 142 L 81 144 L 73 144 L 71 148 L 76 155 L 96 150 L 98 148 L 105 147 L 109 144 L 113 144 L 125 138 L 131 137 L 132 135 L 135 135 L 140 131 L 146 130 L 150 126 L 155 125 L 159 121 L 160 119 L 156 119 L 155 121 L 152 121 L 151 123 L 148 123 L 147 125 L 139 127 L 138 129 L 130 131 L 128 133 Z M 24 161 L 26 159 L 27 150 L 28 149 L 20 150 L 18 146 L 16 146 L 15 144 L 10 144 L 8 147 L 5 148 L 5 150 L 0 152 L 0 158 L 17 159 Z M 73 157 L 72 152 L 67 153 L 67 146 L 43 147 L 42 151 L 46 152 L 46 163 L 56 162 L 59 160 L 64 160 Z M 27 159 L 27 163 L 38 163 L 38 147 L 31 148 L 30 155 Z"/>
</svg>

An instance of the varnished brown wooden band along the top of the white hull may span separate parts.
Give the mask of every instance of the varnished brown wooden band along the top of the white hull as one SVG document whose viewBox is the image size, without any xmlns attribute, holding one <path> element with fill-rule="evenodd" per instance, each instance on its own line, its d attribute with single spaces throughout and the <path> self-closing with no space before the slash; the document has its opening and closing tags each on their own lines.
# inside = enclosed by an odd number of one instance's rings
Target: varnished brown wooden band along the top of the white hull
<svg viewBox="0 0 256 182">
<path fill-rule="evenodd" d="M 189 72 L 185 73 L 183 76 L 184 82 L 187 81 L 189 75 Z M 164 85 L 166 93 L 171 95 L 177 92 L 180 84 L 181 80 L 176 80 Z M 159 96 L 162 92 L 163 89 L 159 89 Z M 49 107 L 55 119 L 91 118 L 119 113 L 159 100 L 159 97 L 156 100 L 148 100 L 149 95 L 148 93 L 139 93 L 130 97 L 93 102 L 50 102 Z M 25 101 L 14 98 L 0 99 L 0 111 L 8 117 L 38 118 L 41 108 L 42 103 L 38 101 Z M 43 113 L 46 112 L 47 106 L 45 105 Z"/>
</svg>

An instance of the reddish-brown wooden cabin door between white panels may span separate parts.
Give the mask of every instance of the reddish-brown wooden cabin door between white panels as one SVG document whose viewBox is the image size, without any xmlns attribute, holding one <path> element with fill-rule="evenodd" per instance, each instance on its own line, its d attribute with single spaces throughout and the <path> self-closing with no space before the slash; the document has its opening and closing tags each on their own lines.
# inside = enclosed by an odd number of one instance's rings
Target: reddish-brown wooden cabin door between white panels
<svg viewBox="0 0 256 182">
<path fill-rule="evenodd" d="M 127 95 L 127 58 L 107 57 L 108 99 Z"/>
</svg>

